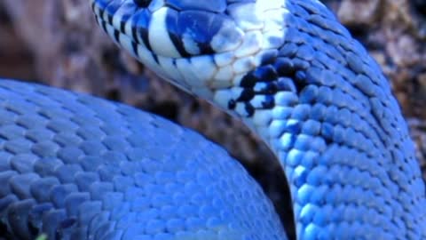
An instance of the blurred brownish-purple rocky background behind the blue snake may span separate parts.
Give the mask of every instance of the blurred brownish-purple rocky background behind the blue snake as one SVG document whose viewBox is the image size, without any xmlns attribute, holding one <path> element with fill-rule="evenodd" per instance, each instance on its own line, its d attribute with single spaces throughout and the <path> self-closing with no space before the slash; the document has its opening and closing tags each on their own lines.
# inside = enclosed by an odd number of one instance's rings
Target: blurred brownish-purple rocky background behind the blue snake
<svg viewBox="0 0 426 240">
<path fill-rule="evenodd" d="M 426 177 L 426 1 L 322 2 L 389 77 Z M 120 52 L 96 26 L 88 0 L 0 0 L 0 77 L 89 92 L 193 128 L 244 164 L 283 220 L 291 216 L 282 204 L 288 203 L 284 176 L 264 144 L 240 122 L 177 91 Z"/>
</svg>

